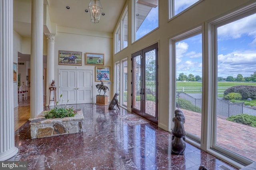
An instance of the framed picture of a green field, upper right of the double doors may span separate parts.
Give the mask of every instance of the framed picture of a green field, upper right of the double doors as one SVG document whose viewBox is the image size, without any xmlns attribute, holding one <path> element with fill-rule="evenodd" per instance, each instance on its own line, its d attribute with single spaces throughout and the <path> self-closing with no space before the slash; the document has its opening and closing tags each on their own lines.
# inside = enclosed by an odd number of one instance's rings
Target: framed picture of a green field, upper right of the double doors
<svg viewBox="0 0 256 170">
<path fill-rule="evenodd" d="M 104 65 L 104 54 L 85 53 L 86 65 Z"/>
</svg>

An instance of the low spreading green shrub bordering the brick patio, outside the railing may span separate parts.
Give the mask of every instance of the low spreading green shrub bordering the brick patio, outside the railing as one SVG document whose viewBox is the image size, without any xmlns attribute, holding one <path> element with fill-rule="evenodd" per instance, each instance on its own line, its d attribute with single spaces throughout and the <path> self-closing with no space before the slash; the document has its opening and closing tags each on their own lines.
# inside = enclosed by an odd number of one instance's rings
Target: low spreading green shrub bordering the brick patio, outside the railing
<svg viewBox="0 0 256 170">
<path fill-rule="evenodd" d="M 233 115 L 227 118 L 228 121 L 233 121 L 243 125 L 256 127 L 256 116 L 248 114 Z"/>
</svg>

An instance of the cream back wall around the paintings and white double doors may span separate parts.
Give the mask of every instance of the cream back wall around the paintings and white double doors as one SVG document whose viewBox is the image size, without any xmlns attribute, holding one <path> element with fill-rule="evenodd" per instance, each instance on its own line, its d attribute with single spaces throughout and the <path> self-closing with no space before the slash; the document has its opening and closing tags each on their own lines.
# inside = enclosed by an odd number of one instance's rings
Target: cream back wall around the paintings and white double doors
<svg viewBox="0 0 256 170">
<path fill-rule="evenodd" d="M 98 94 L 95 87 L 100 82 L 95 82 L 95 66 L 85 65 L 85 53 L 102 53 L 104 54 L 104 66 L 110 66 L 110 81 L 111 84 L 105 84 L 110 91 L 106 95 L 109 100 L 112 99 L 111 85 L 114 81 L 112 77 L 112 34 L 100 33 L 95 31 L 86 31 L 81 29 L 72 29 L 67 27 L 58 27 L 57 35 L 54 39 L 54 79 L 58 87 L 58 70 L 61 69 L 84 69 L 93 71 L 93 102 L 96 102 L 96 95 Z M 82 66 L 58 65 L 59 50 L 64 51 L 78 51 L 82 52 Z M 58 93 L 58 89 L 57 89 Z M 58 94 L 57 94 L 58 96 Z"/>
</svg>

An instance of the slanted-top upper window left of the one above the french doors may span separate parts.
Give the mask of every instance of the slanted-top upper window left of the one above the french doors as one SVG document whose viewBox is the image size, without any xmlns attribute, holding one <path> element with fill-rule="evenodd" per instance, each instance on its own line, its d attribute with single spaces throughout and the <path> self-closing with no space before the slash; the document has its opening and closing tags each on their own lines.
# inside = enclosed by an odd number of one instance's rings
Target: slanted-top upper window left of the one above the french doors
<svg viewBox="0 0 256 170">
<path fill-rule="evenodd" d="M 121 21 L 115 32 L 115 53 L 128 46 L 128 6 L 124 10 Z"/>
</svg>

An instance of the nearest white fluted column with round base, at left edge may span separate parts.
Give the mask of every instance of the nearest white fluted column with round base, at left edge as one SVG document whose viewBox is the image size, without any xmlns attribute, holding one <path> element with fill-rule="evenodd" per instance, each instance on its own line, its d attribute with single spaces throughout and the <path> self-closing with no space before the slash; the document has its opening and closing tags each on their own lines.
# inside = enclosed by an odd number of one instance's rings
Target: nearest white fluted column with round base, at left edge
<svg viewBox="0 0 256 170">
<path fill-rule="evenodd" d="M 15 156 L 13 104 L 13 0 L 0 1 L 0 161 Z"/>
</svg>

